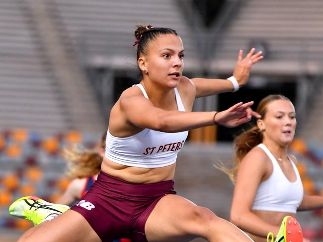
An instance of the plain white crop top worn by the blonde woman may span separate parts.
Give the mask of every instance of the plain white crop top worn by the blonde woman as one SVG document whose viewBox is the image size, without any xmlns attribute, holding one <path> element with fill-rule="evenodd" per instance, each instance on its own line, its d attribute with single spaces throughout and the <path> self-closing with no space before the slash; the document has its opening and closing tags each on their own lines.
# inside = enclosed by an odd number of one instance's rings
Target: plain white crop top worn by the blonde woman
<svg viewBox="0 0 323 242">
<path fill-rule="evenodd" d="M 281 170 L 277 160 L 264 144 L 259 144 L 269 156 L 273 171 L 270 177 L 258 186 L 252 210 L 296 213 L 303 200 L 304 190 L 298 170 L 290 159 L 296 174 L 296 181 L 290 182 Z"/>
</svg>

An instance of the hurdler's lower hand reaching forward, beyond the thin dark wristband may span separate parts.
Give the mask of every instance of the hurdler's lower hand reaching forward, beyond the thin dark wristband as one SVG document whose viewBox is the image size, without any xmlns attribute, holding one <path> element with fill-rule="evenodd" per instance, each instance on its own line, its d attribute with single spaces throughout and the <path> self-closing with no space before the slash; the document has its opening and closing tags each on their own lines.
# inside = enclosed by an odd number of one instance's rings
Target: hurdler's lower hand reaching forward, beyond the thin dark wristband
<svg viewBox="0 0 323 242">
<path fill-rule="evenodd" d="M 231 108 L 219 112 L 215 117 L 215 122 L 226 127 L 236 127 L 250 121 L 252 117 L 260 119 L 261 116 L 250 108 L 252 104 L 253 101 L 245 104 L 237 103 Z"/>
</svg>

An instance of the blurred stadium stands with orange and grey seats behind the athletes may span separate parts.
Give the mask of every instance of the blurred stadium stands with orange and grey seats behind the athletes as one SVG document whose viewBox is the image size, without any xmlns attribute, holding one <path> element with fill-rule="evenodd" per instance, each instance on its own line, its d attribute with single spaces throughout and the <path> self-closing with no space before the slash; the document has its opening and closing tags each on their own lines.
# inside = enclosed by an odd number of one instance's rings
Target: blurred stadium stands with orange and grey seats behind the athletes
<svg viewBox="0 0 323 242">
<path fill-rule="evenodd" d="M 136 24 L 177 30 L 190 78 L 227 78 L 240 49 L 263 51 L 246 86 L 197 99 L 194 110 L 287 96 L 298 121 L 290 152 L 305 191 L 323 194 L 322 0 L 0 0 L 0 242 L 31 227 L 8 214 L 11 202 L 31 194 L 55 201 L 70 182 L 62 151 L 94 148 L 112 105 L 140 81 Z M 248 126 L 190 131 L 178 194 L 229 219 L 233 184 L 213 164 L 230 164 L 232 140 Z M 298 219 L 308 238 L 323 241 L 322 210 Z"/>
</svg>

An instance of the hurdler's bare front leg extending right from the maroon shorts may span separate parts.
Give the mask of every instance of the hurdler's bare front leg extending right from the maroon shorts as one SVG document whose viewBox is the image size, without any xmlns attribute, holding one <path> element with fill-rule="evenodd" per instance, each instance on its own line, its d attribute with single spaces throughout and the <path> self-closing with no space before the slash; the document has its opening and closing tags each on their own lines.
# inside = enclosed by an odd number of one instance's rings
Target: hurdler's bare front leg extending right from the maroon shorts
<svg viewBox="0 0 323 242">
<path fill-rule="evenodd" d="M 149 242 L 190 241 L 202 237 L 209 242 L 250 242 L 245 233 L 207 208 L 166 195 L 157 203 L 145 226 Z"/>
</svg>

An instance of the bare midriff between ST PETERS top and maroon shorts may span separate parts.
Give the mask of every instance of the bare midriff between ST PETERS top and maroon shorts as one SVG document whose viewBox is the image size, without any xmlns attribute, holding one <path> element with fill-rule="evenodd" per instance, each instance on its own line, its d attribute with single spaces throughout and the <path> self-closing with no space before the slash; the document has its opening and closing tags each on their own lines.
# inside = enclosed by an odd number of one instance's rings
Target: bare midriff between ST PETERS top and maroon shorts
<svg viewBox="0 0 323 242">
<path fill-rule="evenodd" d="M 120 178 L 127 182 L 155 183 L 172 180 L 175 174 L 176 163 L 159 168 L 141 168 L 121 165 L 103 158 L 101 165 L 102 172 Z"/>
</svg>

